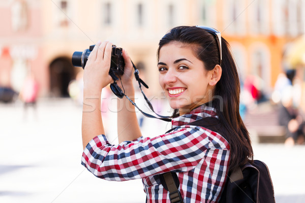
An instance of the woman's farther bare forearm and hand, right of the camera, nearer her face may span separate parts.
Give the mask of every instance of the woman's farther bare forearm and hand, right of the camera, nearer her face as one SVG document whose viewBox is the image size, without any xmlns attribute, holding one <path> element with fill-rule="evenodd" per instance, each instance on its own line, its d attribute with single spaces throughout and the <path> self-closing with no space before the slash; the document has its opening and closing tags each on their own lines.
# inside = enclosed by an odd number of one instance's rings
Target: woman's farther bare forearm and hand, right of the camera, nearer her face
<svg viewBox="0 0 305 203">
<path fill-rule="evenodd" d="M 121 81 L 125 89 L 125 94 L 134 100 L 135 90 L 133 87 L 133 66 L 127 52 L 123 50 L 125 59 L 124 75 L 121 76 Z M 120 81 L 117 84 L 121 87 Z M 121 87 L 123 89 L 123 87 Z M 118 142 L 132 141 L 141 137 L 141 131 L 138 124 L 135 107 L 130 101 L 123 97 L 117 99 L 117 134 Z"/>
</svg>

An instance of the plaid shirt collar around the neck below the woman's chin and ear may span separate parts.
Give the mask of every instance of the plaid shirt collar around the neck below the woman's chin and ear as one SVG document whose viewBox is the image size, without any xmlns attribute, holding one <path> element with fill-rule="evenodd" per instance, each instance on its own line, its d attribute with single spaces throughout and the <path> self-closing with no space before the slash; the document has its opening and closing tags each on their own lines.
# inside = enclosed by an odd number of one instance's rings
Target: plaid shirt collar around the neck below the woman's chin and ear
<svg viewBox="0 0 305 203">
<path fill-rule="evenodd" d="M 205 117 L 216 117 L 217 113 L 215 108 L 213 107 L 207 107 L 206 105 L 202 105 L 197 107 L 196 109 L 193 109 L 190 113 L 184 114 L 182 116 L 178 116 L 176 118 L 172 119 L 172 128 L 186 125 L 188 123 L 194 122 L 196 120 L 205 118 Z"/>
</svg>

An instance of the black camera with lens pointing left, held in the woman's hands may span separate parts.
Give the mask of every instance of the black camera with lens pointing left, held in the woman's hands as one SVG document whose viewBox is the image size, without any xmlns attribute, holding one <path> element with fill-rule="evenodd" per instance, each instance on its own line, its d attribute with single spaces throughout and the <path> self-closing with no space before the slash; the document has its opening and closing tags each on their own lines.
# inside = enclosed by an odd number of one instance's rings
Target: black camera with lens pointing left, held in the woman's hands
<svg viewBox="0 0 305 203">
<path fill-rule="evenodd" d="M 90 53 L 92 52 L 95 45 L 91 45 L 89 49 L 85 49 L 83 52 L 75 51 L 72 55 L 72 64 L 74 66 L 85 68 L 86 62 Z M 122 48 L 112 45 L 111 51 L 111 64 L 110 64 L 110 73 L 114 73 L 117 76 L 124 74 L 125 61 L 123 58 Z"/>
</svg>

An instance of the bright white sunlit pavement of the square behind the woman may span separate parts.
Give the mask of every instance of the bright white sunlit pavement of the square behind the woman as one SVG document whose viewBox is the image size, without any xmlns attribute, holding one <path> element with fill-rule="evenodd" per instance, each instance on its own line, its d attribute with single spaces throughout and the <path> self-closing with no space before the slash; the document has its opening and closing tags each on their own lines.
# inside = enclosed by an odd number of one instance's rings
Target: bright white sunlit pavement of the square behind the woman
<svg viewBox="0 0 305 203">
<path fill-rule="evenodd" d="M 145 202 L 140 180 L 100 180 L 80 164 L 81 111 L 70 99 L 41 99 L 26 114 L 19 101 L 0 104 L 0 202 Z M 277 203 L 305 202 L 305 146 L 256 144 L 254 153 L 269 166 Z"/>
</svg>

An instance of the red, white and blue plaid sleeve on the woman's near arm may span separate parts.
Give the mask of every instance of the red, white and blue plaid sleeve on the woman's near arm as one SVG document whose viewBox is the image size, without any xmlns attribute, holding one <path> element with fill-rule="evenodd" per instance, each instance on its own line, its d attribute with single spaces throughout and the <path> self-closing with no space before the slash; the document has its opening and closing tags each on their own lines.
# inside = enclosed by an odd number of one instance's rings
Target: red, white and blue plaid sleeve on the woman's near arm
<svg viewBox="0 0 305 203">
<path fill-rule="evenodd" d="M 140 179 L 169 171 L 192 170 L 211 142 L 201 128 L 178 128 L 155 138 L 139 138 L 110 145 L 103 134 L 91 140 L 82 155 L 82 165 L 99 178 L 111 181 Z M 228 144 L 218 142 L 226 150 Z"/>
</svg>

